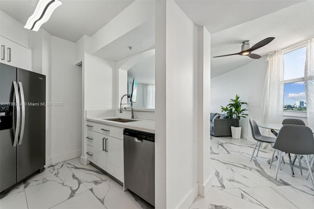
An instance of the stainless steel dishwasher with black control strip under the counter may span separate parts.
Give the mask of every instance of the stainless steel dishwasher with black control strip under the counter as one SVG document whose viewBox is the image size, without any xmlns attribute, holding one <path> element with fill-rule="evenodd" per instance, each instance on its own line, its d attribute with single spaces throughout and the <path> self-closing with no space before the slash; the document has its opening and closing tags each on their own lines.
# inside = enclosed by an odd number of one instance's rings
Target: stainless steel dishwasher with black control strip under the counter
<svg viewBox="0 0 314 209">
<path fill-rule="evenodd" d="M 155 206 L 155 134 L 124 130 L 124 186 Z"/>
</svg>

